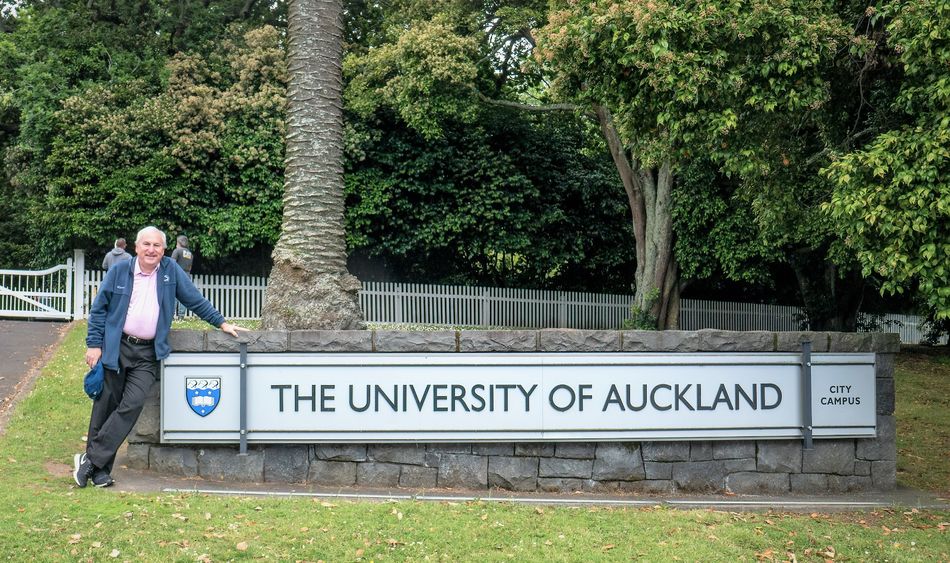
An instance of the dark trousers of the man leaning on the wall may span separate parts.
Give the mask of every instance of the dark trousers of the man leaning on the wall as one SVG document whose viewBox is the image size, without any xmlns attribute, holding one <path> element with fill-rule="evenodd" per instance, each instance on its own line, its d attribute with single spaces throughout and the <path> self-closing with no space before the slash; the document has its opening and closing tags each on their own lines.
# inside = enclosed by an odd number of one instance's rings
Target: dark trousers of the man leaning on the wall
<svg viewBox="0 0 950 563">
<path fill-rule="evenodd" d="M 158 375 L 154 344 L 122 340 L 119 371 L 105 369 L 102 394 L 92 404 L 86 455 L 92 464 L 112 473 L 115 454 L 122 445 Z"/>
</svg>

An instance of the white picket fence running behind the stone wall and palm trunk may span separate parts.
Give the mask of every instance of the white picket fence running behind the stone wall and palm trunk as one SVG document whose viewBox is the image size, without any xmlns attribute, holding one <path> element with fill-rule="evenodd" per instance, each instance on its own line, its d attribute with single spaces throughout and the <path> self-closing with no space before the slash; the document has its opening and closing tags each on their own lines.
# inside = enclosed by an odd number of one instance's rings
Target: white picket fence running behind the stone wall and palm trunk
<svg viewBox="0 0 950 563">
<path fill-rule="evenodd" d="M 105 272 L 86 271 L 85 311 Z M 195 285 L 229 318 L 259 319 L 267 278 L 196 275 Z M 469 287 L 390 282 L 363 282 L 360 306 L 366 321 L 386 324 L 425 324 L 497 328 L 616 329 L 630 315 L 632 295 Z M 683 299 L 679 328 L 699 330 L 794 331 L 800 327 L 798 307 Z M 901 341 L 919 343 L 920 318 L 887 315 L 887 332 Z M 893 322 L 899 321 L 899 322 Z"/>
</svg>

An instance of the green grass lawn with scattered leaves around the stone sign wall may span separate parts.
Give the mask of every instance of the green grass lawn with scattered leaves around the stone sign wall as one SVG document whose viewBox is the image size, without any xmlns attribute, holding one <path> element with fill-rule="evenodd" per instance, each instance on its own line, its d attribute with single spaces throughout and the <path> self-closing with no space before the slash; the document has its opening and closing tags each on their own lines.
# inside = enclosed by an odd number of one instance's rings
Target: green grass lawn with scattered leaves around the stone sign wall
<svg viewBox="0 0 950 563">
<path fill-rule="evenodd" d="M 950 560 L 948 512 L 809 515 L 481 502 L 329 503 L 76 489 L 63 468 L 71 464 L 73 453 L 83 449 L 88 422 L 90 403 L 81 390 L 84 335 L 83 324 L 67 334 L 0 437 L 0 557 L 19 561 Z M 906 374 L 916 368 L 902 361 L 900 369 Z M 900 376 L 901 388 L 905 379 L 911 376 Z M 933 389 L 931 384 L 927 388 Z M 946 418 L 938 420 L 943 421 L 938 424 L 943 424 L 945 440 Z M 922 432 L 919 439 L 930 440 L 932 435 L 932 431 Z M 930 442 L 905 443 L 902 452 L 931 447 Z M 902 462 L 903 479 L 913 482 L 911 476 L 917 479 L 927 474 L 928 467 L 932 472 L 934 467 L 927 463 L 946 463 L 936 455 L 921 458 L 919 466 Z"/>
</svg>

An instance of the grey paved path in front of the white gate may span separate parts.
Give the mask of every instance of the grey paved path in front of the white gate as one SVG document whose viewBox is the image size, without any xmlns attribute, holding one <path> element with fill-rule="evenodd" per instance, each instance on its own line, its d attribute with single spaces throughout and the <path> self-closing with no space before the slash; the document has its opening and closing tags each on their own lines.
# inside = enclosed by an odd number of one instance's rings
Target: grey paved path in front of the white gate
<svg viewBox="0 0 950 563">
<path fill-rule="evenodd" d="M 64 322 L 0 319 L 0 429 L 18 394 L 31 387 L 50 347 L 59 342 Z"/>
</svg>

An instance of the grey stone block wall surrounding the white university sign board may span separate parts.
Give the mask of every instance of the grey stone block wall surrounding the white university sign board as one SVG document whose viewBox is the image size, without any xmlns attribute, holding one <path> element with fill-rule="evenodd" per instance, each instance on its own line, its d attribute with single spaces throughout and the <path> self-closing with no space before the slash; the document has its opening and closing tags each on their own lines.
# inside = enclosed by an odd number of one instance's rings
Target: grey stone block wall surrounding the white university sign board
<svg viewBox="0 0 950 563">
<path fill-rule="evenodd" d="M 155 385 L 129 436 L 138 469 L 245 482 L 334 487 L 649 493 L 839 493 L 889 490 L 896 481 L 897 335 L 687 331 L 272 331 L 242 335 L 250 352 L 874 352 L 874 439 L 183 446 L 159 443 Z M 173 331 L 174 351 L 237 351 L 218 331 Z"/>
</svg>

